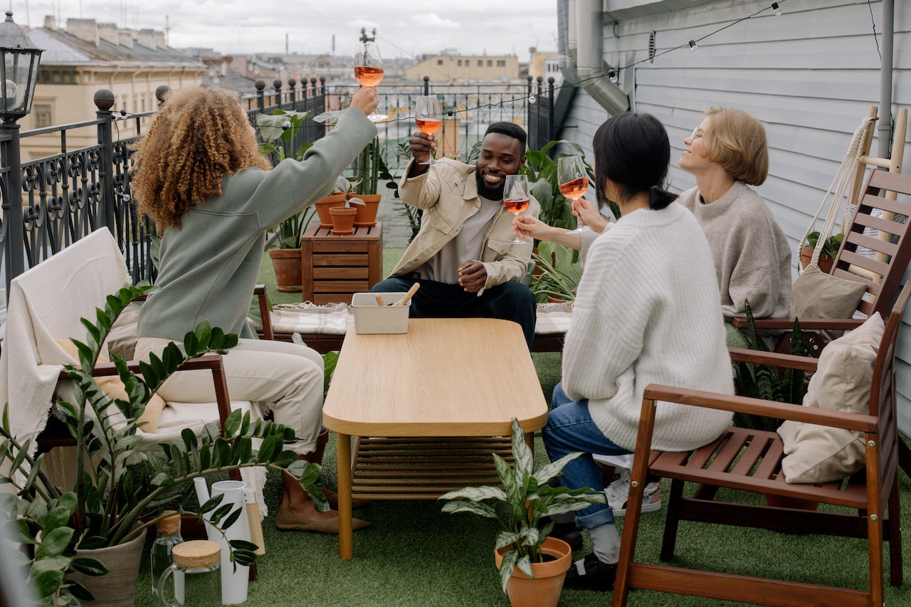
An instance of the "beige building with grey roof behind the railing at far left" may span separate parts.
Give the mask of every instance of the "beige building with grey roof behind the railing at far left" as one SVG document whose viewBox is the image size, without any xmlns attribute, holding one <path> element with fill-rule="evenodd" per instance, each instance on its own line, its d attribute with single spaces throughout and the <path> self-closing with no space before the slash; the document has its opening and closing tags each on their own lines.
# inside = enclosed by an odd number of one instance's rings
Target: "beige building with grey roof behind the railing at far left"
<svg viewBox="0 0 911 607">
<path fill-rule="evenodd" d="M 28 37 L 44 48 L 32 112 L 19 121 L 23 130 L 83 122 L 95 115 L 99 88 L 114 93 L 115 111 L 148 112 L 158 107 L 155 89 L 177 90 L 199 85 L 206 67 L 197 59 L 171 48 L 164 32 L 125 29 L 95 19 L 67 19 L 67 29 L 46 16 L 43 27 Z M 67 147 L 96 143 L 96 129 L 67 134 Z M 59 152 L 59 136 L 23 140 L 23 159 Z"/>
</svg>

